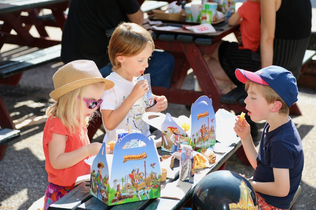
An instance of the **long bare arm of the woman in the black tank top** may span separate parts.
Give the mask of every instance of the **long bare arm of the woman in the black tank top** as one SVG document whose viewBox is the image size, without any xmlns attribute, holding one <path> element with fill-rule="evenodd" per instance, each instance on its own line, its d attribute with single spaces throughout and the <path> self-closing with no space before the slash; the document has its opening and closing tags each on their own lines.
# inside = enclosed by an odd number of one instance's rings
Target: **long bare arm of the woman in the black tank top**
<svg viewBox="0 0 316 210">
<path fill-rule="evenodd" d="M 261 1 L 261 67 L 272 65 L 276 27 L 276 0 Z"/>
</svg>

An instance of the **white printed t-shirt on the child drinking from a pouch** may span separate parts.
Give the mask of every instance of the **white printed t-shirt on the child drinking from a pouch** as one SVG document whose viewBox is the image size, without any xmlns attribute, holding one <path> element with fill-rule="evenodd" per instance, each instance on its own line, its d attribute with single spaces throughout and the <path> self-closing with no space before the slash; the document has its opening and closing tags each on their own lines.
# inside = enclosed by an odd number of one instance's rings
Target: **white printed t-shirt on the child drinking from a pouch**
<svg viewBox="0 0 316 210">
<path fill-rule="evenodd" d="M 119 76 L 119 74 L 112 72 L 109 76 L 106 77 L 115 83 L 114 87 L 104 91 L 101 96 L 103 102 L 100 106 L 100 110 L 116 110 L 123 101 L 131 94 L 134 85 L 137 83 L 137 78 L 133 78 L 133 82 L 127 81 L 123 77 Z M 116 139 L 116 129 L 136 129 L 142 131 L 142 133 L 146 136 L 150 134 L 149 132 L 149 124 L 142 120 L 143 113 L 145 113 L 145 109 L 147 105 L 143 97 L 138 99 L 131 110 L 128 112 L 127 116 L 125 116 L 124 120 L 119 123 L 119 125 L 114 128 L 112 131 L 106 129 L 104 122 L 104 129 L 106 134 L 104 136 L 103 142 L 115 141 Z M 102 119 L 103 121 L 103 119 Z"/>
</svg>

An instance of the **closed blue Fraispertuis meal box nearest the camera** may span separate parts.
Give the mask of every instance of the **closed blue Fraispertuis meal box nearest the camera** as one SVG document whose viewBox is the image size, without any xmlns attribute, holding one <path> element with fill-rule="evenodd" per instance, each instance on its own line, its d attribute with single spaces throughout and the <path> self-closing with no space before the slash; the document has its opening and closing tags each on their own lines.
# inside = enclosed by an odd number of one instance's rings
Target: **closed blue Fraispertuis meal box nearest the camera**
<svg viewBox="0 0 316 210">
<path fill-rule="evenodd" d="M 130 141 L 140 146 L 127 148 Z M 91 165 L 90 194 L 108 206 L 160 197 L 161 169 L 155 143 L 141 133 L 117 141 L 113 155 L 103 143 Z"/>
</svg>

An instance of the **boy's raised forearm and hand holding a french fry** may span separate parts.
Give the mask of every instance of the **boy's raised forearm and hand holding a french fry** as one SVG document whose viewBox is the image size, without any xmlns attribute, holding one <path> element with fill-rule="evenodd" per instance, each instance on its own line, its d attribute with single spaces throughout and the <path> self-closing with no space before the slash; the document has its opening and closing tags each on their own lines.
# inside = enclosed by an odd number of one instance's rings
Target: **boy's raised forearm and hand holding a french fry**
<svg viewBox="0 0 316 210">
<path fill-rule="evenodd" d="M 239 120 L 240 115 L 237 116 L 234 131 L 240 137 L 242 145 L 244 147 L 246 156 L 251 166 L 256 169 L 257 167 L 257 155 L 258 150 L 253 144 L 252 137 L 250 135 L 250 125 L 244 118 L 242 122 Z"/>
</svg>

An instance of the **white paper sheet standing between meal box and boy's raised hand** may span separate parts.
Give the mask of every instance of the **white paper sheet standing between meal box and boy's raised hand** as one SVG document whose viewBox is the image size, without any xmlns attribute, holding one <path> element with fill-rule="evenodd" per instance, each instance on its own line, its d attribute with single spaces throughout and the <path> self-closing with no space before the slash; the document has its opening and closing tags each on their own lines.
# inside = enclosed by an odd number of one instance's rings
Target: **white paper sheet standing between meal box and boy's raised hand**
<svg viewBox="0 0 316 210">
<path fill-rule="evenodd" d="M 216 140 L 226 146 L 237 143 L 239 139 L 234 131 L 235 118 L 229 111 L 219 109 L 215 113 L 216 117 Z"/>
</svg>

